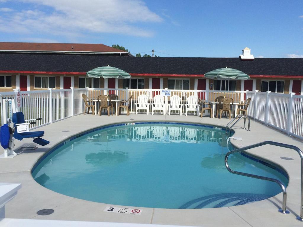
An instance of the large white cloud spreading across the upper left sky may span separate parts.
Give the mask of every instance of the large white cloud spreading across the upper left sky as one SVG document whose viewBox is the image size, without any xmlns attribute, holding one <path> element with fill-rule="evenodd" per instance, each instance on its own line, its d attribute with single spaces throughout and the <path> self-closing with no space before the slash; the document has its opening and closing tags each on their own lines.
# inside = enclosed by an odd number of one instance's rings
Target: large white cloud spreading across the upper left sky
<svg viewBox="0 0 303 227">
<path fill-rule="evenodd" d="M 1 1 L 1 0 L 0 0 Z M 140 28 L 139 22 L 161 22 L 163 19 L 151 12 L 141 0 L 23 0 L 34 4 L 33 10 L 22 10 L 6 17 L 0 16 L 3 32 L 39 33 L 83 36 L 116 33 L 150 37 L 152 31 Z M 44 12 L 39 6 L 51 10 Z M 136 25 L 134 25 L 136 23 Z"/>
</svg>

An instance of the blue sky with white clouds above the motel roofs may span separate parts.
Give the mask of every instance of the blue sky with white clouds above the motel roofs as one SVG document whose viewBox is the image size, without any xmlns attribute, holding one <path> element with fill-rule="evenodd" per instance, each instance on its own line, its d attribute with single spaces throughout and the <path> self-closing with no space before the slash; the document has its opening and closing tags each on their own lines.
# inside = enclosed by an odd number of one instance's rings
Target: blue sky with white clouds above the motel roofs
<svg viewBox="0 0 303 227">
<path fill-rule="evenodd" d="M 303 1 L 0 0 L 0 41 L 119 44 L 162 57 L 303 58 Z"/>
</svg>

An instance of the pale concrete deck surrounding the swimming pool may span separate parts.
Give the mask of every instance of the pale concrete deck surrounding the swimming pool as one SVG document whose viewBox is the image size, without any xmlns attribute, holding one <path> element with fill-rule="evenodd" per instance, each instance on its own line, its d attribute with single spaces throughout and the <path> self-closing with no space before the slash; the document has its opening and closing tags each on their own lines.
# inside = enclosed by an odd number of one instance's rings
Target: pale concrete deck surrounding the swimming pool
<svg viewBox="0 0 303 227">
<path fill-rule="evenodd" d="M 106 124 L 136 122 L 136 121 L 181 121 L 201 124 L 218 125 L 225 127 L 228 119 L 217 119 L 197 116 L 179 115 L 146 115 L 130 114 L 130 116 L 92 116 L 78 115 L 58 121 L 36 130 L 45 130 L 44 138 L 50 140 L 47 146 L 38 146 L 34 151 L 23 151 L 14 158 L 0 159 L 0 182 L 21 183 L 22 188 L 17 196 L 5 206 L 5 217 L 16 219 L 49 219 L 72 221 L 98 222 L 126 222 L 166 225 L 192 226 L 303 226 L 303 222 L 295 218 L 300 212 L 301 192 L 301 162 L 294 150 L 277 146 L 265 145 L 249 150 L 255 156 L 270 160 L 272 163 L 283 166 L 289 175 L 287 187 L 287 209 L 290 214 L 284 215 L 277 210 L 281 208 L 282 193 L 259 202 L 241 206 L 213 208 L 213 209 L 158 209 L 141 208 L 141 215 L 103 212 L 108 204 L 76 199 L 51 191 L 32 178 L 31 169 L 37 160 L 48 149 L 75 134 Z M 235 146 L 248 146 L 265 140 L 287 143 L 298 146 L 303 150 L 303 143 L 284 133 L 266 127 L 251 120 L 251 131 L 241 128 L 243 122 L 235 127 L 235 137 L 242 137 L 242 141 L 231 140 Z M 69 130 L 69 132 L 62 132 Z M 67 137 L 63 137 L 67 136 Z M 33 144 L 32 140 L 15 140 L 15 150 L 24 144 Z M 20 152 L 20 151 L 17 151 Z M 3 151 L 0 152 L 0 154 Z M 290 157 L 294 160 L 283 160 L 280 157 Z M 232 167 L 231 167 L 232 168 Z M 226 170 L 227 171 L 227 170 Z M 118 206 L 118 205 L 114 205 Z M 125 206 L 124 206 L 125 207 Z M 36 214 L 41 209 L 54 209 L 55 212 L 47 216 Z"/>
</svg>

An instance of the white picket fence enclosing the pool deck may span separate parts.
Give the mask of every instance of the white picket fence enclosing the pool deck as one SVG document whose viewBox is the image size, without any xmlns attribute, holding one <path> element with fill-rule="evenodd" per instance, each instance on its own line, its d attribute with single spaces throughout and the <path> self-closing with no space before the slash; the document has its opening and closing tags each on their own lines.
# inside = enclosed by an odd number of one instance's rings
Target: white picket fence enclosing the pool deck
<svg viewBox="0 0 303 227">
<path fill-rule="evenodd" d="M 148 102 L 152 104 L 153 97 L 161 94 L 160 89 L 114 89 L 114 88 L 80 88 L 61 90 L 34 90 L 20 91 L 22 106 L 20 111 L 24 113 L 25 119 L 41 117 L 37 124 L 30 125 L 32 128 L 40 127 L 49 123 L 73 117 L 84 112 L 82 94 L 91 99 L 97 99 L 100 94 L 117 94 L 119 99 L 127 100 L 131 95 L 132 102 L 130 112 L 135 112 L 137 97 L 146 94 Z M 18 90 L 13 92 L 1 92 L 2 99 L 17 97 Z M 214 91 L 214 90 L 171 90 L 171 96 L 181 97 L 182 104 L 186 104 L 189 96 L 200 97 L 206 102 L 214 101 L 218 96 L 231 97 L 234 102 L 242 103 L 251 98 L 247 115 L 265 125 L 281 130 L 303 140 L 303 96 L 291 94 L 278 94 L 258 91 Z M 170 96 L 170 97 L 171 97 Z M 165 105 L 168 107 L 170 97 L 165 97 Z M 1 124 L 5 123 L 6 117 L 1 111 Z"/>
</svg>

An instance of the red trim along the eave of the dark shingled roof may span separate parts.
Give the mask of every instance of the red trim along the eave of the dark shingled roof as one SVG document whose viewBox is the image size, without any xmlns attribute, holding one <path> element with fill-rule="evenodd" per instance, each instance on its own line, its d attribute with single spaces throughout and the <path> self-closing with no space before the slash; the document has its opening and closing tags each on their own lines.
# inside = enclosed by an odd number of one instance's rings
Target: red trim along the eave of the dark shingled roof
<svg viewBox="0 0 303 227">
<path fill-rule="evenodd" d="M 0 70 L 0 73 L 12 74 L 59 74 L 59 75 L 85 75 L 86 72 L 47 72 L 47 71 L 16 71 L 16 70 Z M 160 74 L 160 73 L 130 73 L 132 76 L 152 76 L 152 77 L 204 77 L 204 74 Z M 301 76 L 292 75 L 249 75 L 252 78 L 303 78 Z"/>
</svg>

